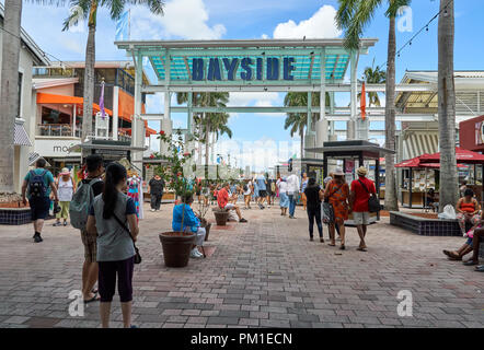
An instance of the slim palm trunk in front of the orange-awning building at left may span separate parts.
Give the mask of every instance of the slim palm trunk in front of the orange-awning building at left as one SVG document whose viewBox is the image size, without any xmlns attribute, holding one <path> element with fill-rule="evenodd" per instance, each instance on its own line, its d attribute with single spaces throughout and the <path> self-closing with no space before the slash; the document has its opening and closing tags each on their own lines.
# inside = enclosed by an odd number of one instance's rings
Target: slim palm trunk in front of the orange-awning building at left
<svg viewBox="0 0 484 350">
<path fill-rule="evenodd" d="M 95 28 L 97 1 L 91 4 L 89 13 L 89 35 L 85 45 L 84 93 L 82 108 L 82 142 L 92 136 L 92 104 L 94 102 L 94 63 L 95 63 Z M 135 122 L 135 121 L 134 121 Z M 134 137 L 134 136 L 132 136 Z"/>
</svg>

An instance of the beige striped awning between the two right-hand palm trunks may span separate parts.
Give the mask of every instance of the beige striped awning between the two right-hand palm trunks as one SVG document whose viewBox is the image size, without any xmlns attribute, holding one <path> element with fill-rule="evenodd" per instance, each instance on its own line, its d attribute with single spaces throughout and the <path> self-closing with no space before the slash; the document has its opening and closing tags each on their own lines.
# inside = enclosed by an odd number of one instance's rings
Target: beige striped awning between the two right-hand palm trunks
<svg viewBox="0 0 484 350">
<path fill-rule="evenodd" d="M 439 151 L 438 131 L 410 131 L 403 139 L 403 159 L 410 160 L 422 154 L 434 154 Z"/>
</svg>

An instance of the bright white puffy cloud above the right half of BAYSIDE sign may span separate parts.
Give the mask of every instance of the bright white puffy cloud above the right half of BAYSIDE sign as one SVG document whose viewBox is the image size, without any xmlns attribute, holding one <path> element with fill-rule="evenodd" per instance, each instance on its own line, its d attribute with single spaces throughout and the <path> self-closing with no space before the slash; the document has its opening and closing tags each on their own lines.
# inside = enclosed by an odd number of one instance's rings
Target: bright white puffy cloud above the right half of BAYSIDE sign
<svg viewBox="0 0 484 350">
<path fill-rule="evenodd" d="M 336 27 L 336 9 L 332 5 L 321 7 L 309 20 L 296 24 L 289 20 L 279 23 L 274 30 L 274 38 L 333 38 L 342 32 Z"/>
</svg>

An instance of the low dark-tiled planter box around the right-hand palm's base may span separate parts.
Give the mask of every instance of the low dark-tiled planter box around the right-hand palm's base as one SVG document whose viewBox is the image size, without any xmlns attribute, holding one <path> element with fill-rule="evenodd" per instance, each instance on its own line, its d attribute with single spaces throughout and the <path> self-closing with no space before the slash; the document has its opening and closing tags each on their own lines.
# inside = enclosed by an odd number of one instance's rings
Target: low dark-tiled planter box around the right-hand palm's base
<svg viewBox="0 0 484 350">
<path fill-rule="evenodd" d="M 423 236 L 462 236 L 457 220 L 426 219 L 391 211 L 390 224 Z"/>
</svg>

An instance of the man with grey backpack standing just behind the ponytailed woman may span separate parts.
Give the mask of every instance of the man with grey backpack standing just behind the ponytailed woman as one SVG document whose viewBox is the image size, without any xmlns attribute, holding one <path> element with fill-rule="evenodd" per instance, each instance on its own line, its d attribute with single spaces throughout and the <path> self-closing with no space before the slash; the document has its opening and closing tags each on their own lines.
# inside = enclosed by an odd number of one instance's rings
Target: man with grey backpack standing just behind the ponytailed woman
<svg viewBox="0 0 484 350">
<path fill-rule="evenodd" d="M 82 266 L 82 295 L 84 303 L 97 301 L 97 291 L 93 290 L 97 282 L 99 266 L 96 259 L 96 236 L 88 233 L 89 210 L 94 197 L 103 192 L 104 183 L 101 176 L 104 173 L 104 161 L 99 154 L 85 159 L 87 177 L 78 184 L 78 190 L 69 206 L 71 225 L 81 231 L 81 241 L 84 245 L 84 264 Z"/>
</svg>

